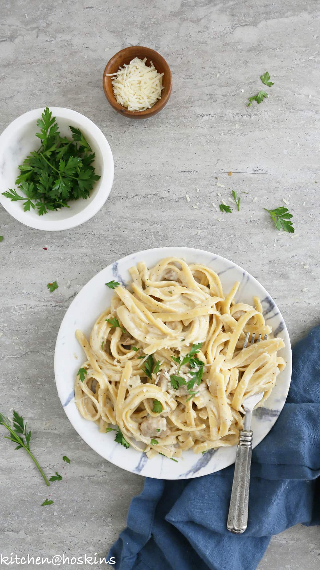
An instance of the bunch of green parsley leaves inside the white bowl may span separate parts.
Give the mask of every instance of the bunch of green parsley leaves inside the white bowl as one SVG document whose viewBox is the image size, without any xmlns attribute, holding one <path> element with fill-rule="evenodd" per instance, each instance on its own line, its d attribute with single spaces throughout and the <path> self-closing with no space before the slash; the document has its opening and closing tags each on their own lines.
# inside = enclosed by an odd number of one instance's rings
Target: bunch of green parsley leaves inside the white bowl
<svg viewBox="0 0 320 570">
<path fill-rule="evenodd" d="M 24 211 L 37 209 L 43 215 L 69 207 L 68 201 L 86 200 L 100 176 L 93 166 L 95 153 L 79 129 L 69 126 L 72 139 L 61 137 L 48 107 L 36 124 L 41 146 L 18 166 L 20 173 L 15 181 L 23 196 L 13 188 L 2 194 L 12 202 L 24 201 Z"/>
</svg>

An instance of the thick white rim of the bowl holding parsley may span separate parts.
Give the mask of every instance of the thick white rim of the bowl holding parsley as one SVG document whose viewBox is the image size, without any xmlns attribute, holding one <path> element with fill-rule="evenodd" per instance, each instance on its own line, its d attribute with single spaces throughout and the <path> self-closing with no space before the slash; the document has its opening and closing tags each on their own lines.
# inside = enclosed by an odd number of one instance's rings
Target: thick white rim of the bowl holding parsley
<svg viewBox="0 0 320 570">
<path fill-rule="evenodd" d="M 5 141 L 8 136 L 13 135 L 13 133 L 17 133 L 20 127 L 30 123 L 33 120 L 39 119 L 41 113 L 43 113 L 43 109 L 45 107 L 40 107 L 38 109 L 32 109 L 31 111 L 27 111 L 14 119 L 1 133 L 0 135 L 0 148 L 2 145 L 5 144 Z M 47 220 L 44 216 L 38 216 L 38 218 L 29 218 L 28 212 L 24 212 L 23 210 L 17 209 L 15 207 L 15 202 L 11 202 L 9 198 L 2 196 L 0 194 L 0 203 L 2 206 L 7 210 L 7 212 L 12 215 L 18 222 L 23 223 L 23 225 L 28 227 L 33 227 L 36 230 L 44 230 L 44 231 L 59 231 L 59 230 L 68 230 L 72 227 L 79 226 L 81 223 L 87 222 L 88 219 L 92 218 L 101 207 L 104 205 L 106 199 L 110 194 L 110 190 L 113 185 L 113 178 L 114 178 L 114 161 L 113 161 L 113 154 L 112 150 L 110 149 L 110 145 L 104 136 L 104 133 L 100 130 L 99 127 L 91 119 L 88 119 L 82 113 L 78 111 L 74 111 L 73 109 L 68 109 L 65 107 L 50 107 L 50 111 L 52 115 L 56 117 L 58 123 L 59 119 L 67 119 L 72 123 L 72 120 L 78 121 L 80 125 L 91 133 L 93 139 L 95 139 L 97 145 L 101 150 L 102 156 L 102 176 L 100 178 L 100 188 L 93 198 L 91 202 L 86 203 L 84 202 L 84 207 L 81 209 L 80 212 L 72 215 L 69 218 L 61 219 L 61 220 Z M 18 166 L 18 165 L 17 165 Z"/>
</svg>

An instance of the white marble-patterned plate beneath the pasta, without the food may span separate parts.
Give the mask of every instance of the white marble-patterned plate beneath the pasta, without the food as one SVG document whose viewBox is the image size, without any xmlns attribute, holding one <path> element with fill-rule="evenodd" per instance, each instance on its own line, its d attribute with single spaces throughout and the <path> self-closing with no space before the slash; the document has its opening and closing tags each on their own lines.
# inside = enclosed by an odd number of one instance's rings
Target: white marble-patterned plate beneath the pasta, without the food
<svg viewBox="0 0 320 570">
<path fill-rule="evenodd" d="M 272 326 L 274 336 L 281 336 L 284 339 L 286 346 L 280 351 L 280 355 L 286 361 L 286 368 L 279 374 L 277 384 L 265 402 L 265 407 L 258 408 L 253 414 L 253 447 L 260 443 L 276 422 L 288 394 L 292 372 L 288 331 L 278 307 L 264 287 L 235 263 L 208 251 L 189 247 L 159 247 L 140 251 L 120 259 L 95 275 L 73 299 L 61 323 L 55 348 L 55 377 L 61 404 L 71 424 L 84 441 L 102 457 L 122 469 L 146 477 L 188 479 L 214 473 L 234 463 L 236 446 L 220 447 L 204 455 L 185 451 L 178 463 L 160 455 L 150 460 L 145 454 L 140 454 L 131 447 L 125 449 L 115 443 L 113 432 L 99 433 L 94 422 L 84 420 L 76 408 L 73 392 L 76 372 L 84 361 L 84 353 L 77 343 L 75 331 L 80 328 L 89 338 L 93 324 L 100 313 L 109 306 L 113 295 L 105 283 L 115 279 L 122 284 L 128 284 L 130 282 L 128 269 L 138 261 L 144 260 L 148 267 L 152 267 L 160 259 L 170 256 L 183 258 L 187 263 L 198 262 L 212 267 L 220 276 L 225 292 L 231 289 L 236 280 L 239 280 L 241 286 L 236 294 L 236 301 L 252 304 L 253 295 L 259 296 L 266 323 Z"/>
</svg>

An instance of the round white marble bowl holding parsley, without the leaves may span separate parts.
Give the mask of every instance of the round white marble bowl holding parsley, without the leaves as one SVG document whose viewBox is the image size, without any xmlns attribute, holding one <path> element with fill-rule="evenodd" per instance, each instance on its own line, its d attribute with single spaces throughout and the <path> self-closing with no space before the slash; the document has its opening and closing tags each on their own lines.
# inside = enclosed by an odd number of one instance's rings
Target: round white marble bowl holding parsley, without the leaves
<svg viewBox="0 0 320 570">
<path fill-rule="evenodd" d="M 49 211 L 47 214 L 39 216 L 37 211 L 23 211 L 23 202 L 11 202 L 9 198 L 0 194 L 2 206 L 19 222 L 26 226 L 34 227 L 37 230 L 67 230 L 70 227 L 79 226 L 92 218 L 100 210 L 108 198 L 113 183 L 114 164 L 113 156 L 104 134 L 99 127 L 92 123 L 81 113 L 64 109 L 62 107 L 50 107 L 52 116 L 56 117 L 59 131 L 62 136 L 71 139 L 71 131 L 68 125 L 77 127 L 83 132 L 93 152 L 96 154 L 95 166 L 96 174 L 101 176 L 93 187 L 89 198 L 69 202 L 69 208 Z M 36 121 L 40 119 L 43 108 L 28 111 L 15 119 L 3 131 L 0 136 L 0 188 L 5 192 L 9 188 L 15 188 L 15 180 L 19 174 L 18 165 L 22 164 L 24 158 L 31 150 L 36 150 L 40 146 L 40 140 L 35 136 L 39 131 Z M 19 193 L 19 190 L 17 190 Z M 21 194 L 23 196 L 23 193 Z"/>
</svg>

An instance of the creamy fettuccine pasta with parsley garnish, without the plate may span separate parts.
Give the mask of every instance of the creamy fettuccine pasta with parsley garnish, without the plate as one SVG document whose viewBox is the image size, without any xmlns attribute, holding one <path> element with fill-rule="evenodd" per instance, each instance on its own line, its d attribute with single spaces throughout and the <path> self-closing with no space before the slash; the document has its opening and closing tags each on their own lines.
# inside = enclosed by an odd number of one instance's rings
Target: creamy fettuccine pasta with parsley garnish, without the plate
<svg viewBox="0 0 320 570">
<path fill-rule="evenodd" d="M 259 298 L 235 302 L 239 282 L 225 295 L 211 268 L 177 258 L 140 262 L 130 275 L 89 342 L 76 331 L 87 358 L 75 380 L 79 412 L 149 458 L 235 445 L 243 400 L 263 391 L 262 405 L 285 367 Z M 253 335 L 261 341 L 250 344 Z"/>
</svg>

